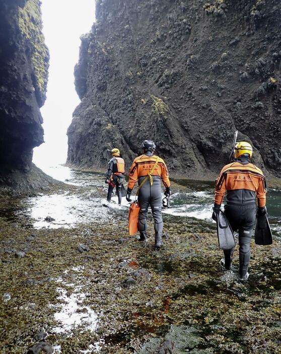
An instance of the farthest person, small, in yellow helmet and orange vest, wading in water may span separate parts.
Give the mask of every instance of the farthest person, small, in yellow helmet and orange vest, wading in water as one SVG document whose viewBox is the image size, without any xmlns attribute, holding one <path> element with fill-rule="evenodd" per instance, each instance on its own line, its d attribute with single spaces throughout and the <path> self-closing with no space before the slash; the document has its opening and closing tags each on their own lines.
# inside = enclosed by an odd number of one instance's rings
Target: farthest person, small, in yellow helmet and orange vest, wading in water
<svg viewBox="0 0 281 354">
<path fill-rule="evenodd" d="M 114 148 L 108 151 L 112 153 L 112 158 L 108 161 L 108 168 L 105 179 L 105 183 L 108 184 L 107 201 L 111 201 L 113 189 L 116 187 L 118 205 L 121 205 L 121 188 L 125 180 L 125 162 L 122 157 L 120 157 L 119 149 Z"/>
</svg>

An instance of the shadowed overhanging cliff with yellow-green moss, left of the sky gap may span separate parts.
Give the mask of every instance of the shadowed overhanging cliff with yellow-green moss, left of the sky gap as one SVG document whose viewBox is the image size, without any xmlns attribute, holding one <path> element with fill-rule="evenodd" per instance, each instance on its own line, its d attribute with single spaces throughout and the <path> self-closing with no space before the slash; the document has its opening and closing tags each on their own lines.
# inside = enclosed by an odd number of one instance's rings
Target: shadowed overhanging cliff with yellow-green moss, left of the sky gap
<svg viewBox="0 0 281 354">
<path fill-rule="evenodd" d="M 46 98 L 49 54 L 41 30 L 39 0 L 1 1 L 0 167 L 4 176 L 11 169 L 29 170 L 32 149 L 43 142 L 39 108 Z"/>
</svg>

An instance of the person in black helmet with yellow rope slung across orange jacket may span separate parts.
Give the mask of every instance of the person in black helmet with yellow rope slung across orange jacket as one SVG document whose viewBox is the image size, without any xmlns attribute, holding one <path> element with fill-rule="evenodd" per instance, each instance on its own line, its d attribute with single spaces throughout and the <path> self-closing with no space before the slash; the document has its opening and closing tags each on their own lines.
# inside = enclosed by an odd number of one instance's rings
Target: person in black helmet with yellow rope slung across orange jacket
<svg viewBox="0 0 281 354">
<path fill-rule="evenodd" d="M 162 158 L 154 155 L 155 144 L 152 140 L 145 140 L 141 148 L 143 155 L 136 157 L 129 169 L 129 182 L 126 200 L 131 201 L 131 191 L 138 183 L 138 204 L 140 207 L 137 229 L 140 233 L 139 241 L 147 239 L 147 214 L 151 206 L 154 218 L 155 246 L 162 246 L 162 195 L 161 180 L 166 188 L 165 195 L 171 195 L 170 181 L 167 166 Z"/>
</svg>

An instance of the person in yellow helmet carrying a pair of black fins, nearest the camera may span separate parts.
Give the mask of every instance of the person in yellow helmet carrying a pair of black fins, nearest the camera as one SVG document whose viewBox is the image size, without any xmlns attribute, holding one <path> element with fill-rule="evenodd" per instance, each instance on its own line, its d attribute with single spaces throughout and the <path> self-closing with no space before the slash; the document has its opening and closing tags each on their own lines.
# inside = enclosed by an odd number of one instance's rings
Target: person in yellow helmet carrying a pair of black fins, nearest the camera
<svg viewBox="0 0 281 354">
<path fill-rule="evenodd" d="M 215 185 L 215 205 L 213 219 L 217 219 L 221 204 L 226 195 L 225 215 L 231 228 L 239 232 L 239 276 L 247 280 L 250 263 L 250 241 L 258 215 L 265 215 L 265 177 L 260 168 L 250 162 L 253 149 L 251 144 L 241 141 L 235 144 L 235 162 L 223 167 Z M 221 265 L 232 269 L 233 249 L 224 250 Z"/>
</svg>

